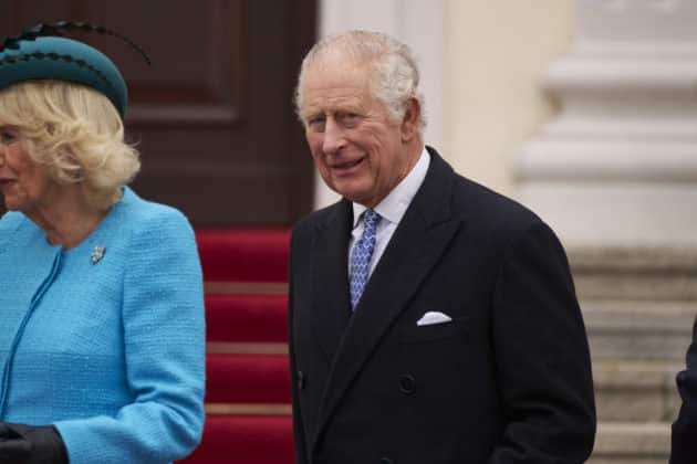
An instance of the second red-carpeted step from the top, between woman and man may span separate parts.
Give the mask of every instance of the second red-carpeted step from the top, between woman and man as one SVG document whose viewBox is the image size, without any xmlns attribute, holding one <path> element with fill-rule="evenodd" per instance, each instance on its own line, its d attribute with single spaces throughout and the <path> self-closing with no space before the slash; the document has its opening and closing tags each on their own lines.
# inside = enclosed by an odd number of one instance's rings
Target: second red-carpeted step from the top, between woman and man
<svg viewBox="0 0 697 464">
<path fill-rule="evenodd" d="M 285 342 L 285 295 L 206 295 L 208 341 Z"/>
</svg>

